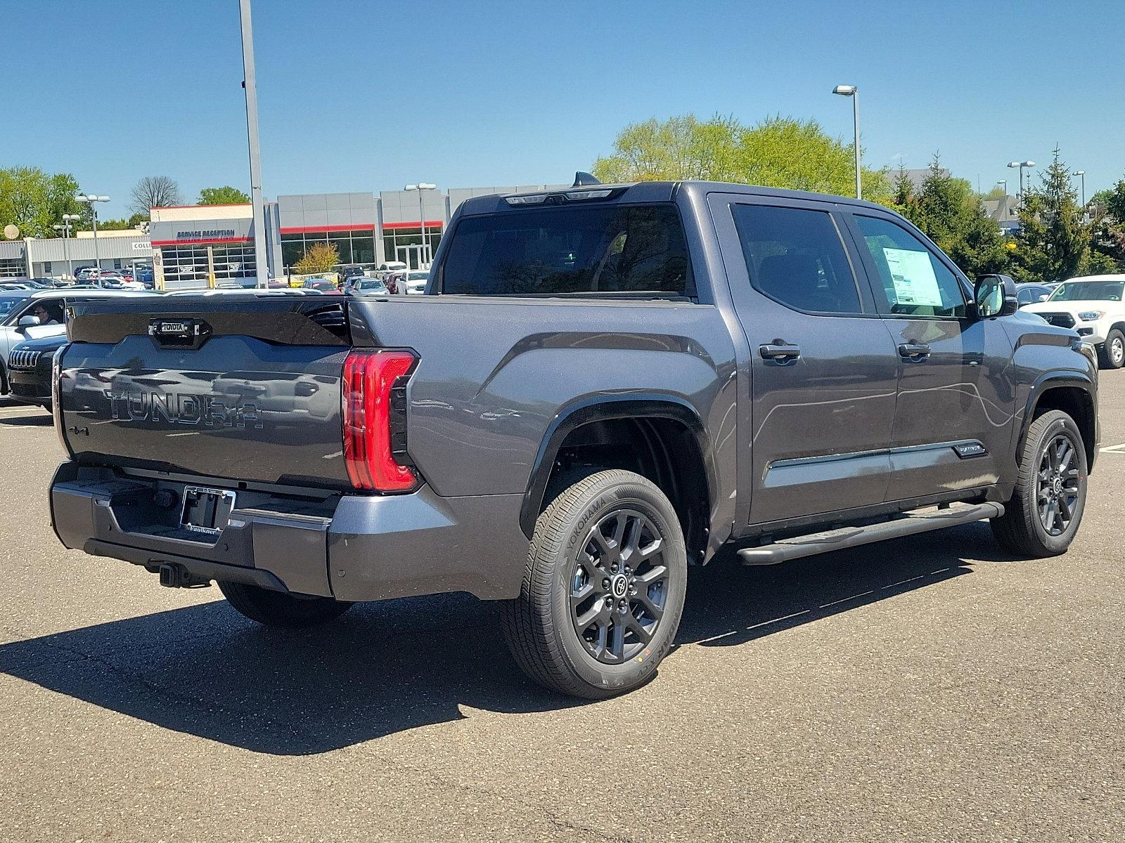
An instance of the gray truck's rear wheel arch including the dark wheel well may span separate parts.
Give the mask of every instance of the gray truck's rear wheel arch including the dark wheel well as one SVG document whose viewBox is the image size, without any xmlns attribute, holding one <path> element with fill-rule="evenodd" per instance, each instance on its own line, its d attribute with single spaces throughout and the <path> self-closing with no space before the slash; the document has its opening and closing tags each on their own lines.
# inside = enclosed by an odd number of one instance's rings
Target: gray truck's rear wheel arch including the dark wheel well
<svg viewBox="0 0 1125 843">
<path fill-rule="evenodd" d="M 719 493 L 718 472 L 699 413 L 685 399 L 670 393 L 600 395 L 565 406 L 543 435 L 532 464 L 520 510 L 521 529 L 531 538 L 551 477 L 565 468 L 560 456 L 569 447 L 592 447 L 598 437 L 606 436 L 619 442 L 627 430 L 632 459 L 641 463 L 640 470 L 629 468 L 649 477 L 668 496 L 681 516 L 688 558 L 695 552 L 696 561 L 703 561 L 712 506 Z M 676 436 L 682 442 L 676 442 Z M 691 447 L 676 447 L 682 443 Z"/>
</svg>

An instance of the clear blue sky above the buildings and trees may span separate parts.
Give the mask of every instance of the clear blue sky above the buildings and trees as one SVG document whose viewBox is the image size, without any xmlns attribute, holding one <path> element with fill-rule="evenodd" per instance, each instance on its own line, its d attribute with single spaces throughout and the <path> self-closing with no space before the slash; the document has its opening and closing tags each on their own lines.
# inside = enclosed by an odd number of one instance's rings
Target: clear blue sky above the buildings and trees
<svg viewBox="0 0 1125 843">
<path fill-rule="evenodd" d="M 1059 144 L 1125 176 L 1125 3 L 254 0 L 267 196 L 558 182 L 627 123 L 814 118 L 865 163 L 935 151 L 988 190 Z M 8 0 L 0 166 L 73 172 L 126 212 L 143 175 L 246 188 L 237 0 Z M 108 212 L 107 212 L 108 211 Z"/>
</svg>

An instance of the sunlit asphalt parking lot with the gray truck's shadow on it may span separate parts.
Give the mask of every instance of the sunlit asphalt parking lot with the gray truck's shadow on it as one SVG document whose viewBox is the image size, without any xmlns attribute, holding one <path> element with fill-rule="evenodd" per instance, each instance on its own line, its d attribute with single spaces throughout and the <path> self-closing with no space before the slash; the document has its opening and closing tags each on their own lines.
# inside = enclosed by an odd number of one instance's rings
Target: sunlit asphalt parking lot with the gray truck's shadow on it
<svg viewBox="0 0 1125 843">
<path fill-rule="evenodd" d="M 592 704 L 469 598 L 282 634 L 65 551 L 58 460 L 0 404 L 0 840 L 1125 839 L 1125 448 L 1060 559 L 971 525 L 695 571 L 656 681 Z"/>
</svg>

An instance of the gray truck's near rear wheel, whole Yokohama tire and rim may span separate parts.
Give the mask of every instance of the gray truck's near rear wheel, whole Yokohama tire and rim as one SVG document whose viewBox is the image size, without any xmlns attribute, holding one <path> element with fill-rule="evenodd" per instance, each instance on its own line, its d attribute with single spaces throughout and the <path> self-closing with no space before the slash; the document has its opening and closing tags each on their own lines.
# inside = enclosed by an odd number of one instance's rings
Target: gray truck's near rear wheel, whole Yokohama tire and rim
<svg viewBox="0 0 1125 843">
<path fill-rule="evenodd" d="M 537 682 L 604 699 L 647 682 L 672 647 L 687 553 L 675 509 L 646 478 L 614 469 L 570 480 L 536 522 L 503 631 Z"/>
</svg>

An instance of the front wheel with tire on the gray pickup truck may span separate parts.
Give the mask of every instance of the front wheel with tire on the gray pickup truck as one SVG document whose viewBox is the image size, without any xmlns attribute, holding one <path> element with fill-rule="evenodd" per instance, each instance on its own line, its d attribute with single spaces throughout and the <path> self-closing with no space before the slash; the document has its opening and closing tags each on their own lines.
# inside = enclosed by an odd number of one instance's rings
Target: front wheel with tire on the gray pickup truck
<svg viewBox="0 0 1125 843">
<path fill-rule="evenodd" d="M 997 543 L 1017 556 L 1065 553 L 1086 508 L 1086 447 L 1074 419 L 1062 410 L 1032 423 L 1019 457 L 1019 477 L 1002 516 L 992 519 Z"/>
</svg>

